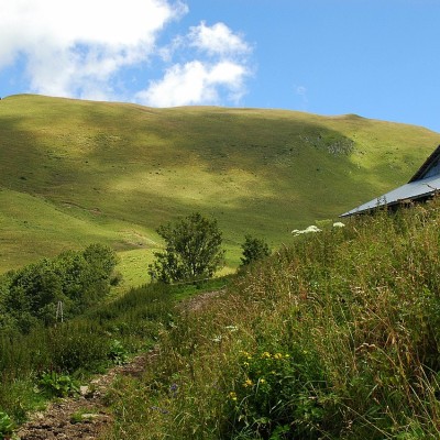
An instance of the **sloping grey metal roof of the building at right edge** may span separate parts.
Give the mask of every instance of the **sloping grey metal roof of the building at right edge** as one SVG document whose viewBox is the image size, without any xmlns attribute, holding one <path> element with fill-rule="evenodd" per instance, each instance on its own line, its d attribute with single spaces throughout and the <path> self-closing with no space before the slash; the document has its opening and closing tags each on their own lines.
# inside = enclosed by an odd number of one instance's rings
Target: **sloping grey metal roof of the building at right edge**
<svg viewBox="0 0 440 440">
<path fill-rule="evenodd" d="M 340 217 L 353 216 L 370 211 L 382 206 L 392 206 L 400 204 L 405 200 L 416 200 L 431 196 L 440 190 L 440 175 L 427 177 L 419 180 L 410 180 L 409 184 L 403 185 L 392 191 L 384 194 L 360 207 L 344 212 Z"/>
</svg>

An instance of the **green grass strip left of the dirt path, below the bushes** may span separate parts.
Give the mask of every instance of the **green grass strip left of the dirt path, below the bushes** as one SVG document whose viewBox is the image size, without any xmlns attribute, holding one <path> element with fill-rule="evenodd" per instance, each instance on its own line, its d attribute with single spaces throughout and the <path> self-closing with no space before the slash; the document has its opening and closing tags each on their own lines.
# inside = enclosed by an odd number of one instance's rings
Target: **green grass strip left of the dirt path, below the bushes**
<svg viewBox="0 0 440 440">
<path fill-rule="evenodd" d="M 228 283 L 222 277 L 197 286 L 144 285 L 103 298 L 63 323 L 34 327 L 29 334 L 0 332 L 0 413 L 21 424 L 54 391 L 67 395 L 68 386 L 77 388 L 91 375 L 152 350 L 160 333 L 174 326 L 176 305 Z"/>
</svg>

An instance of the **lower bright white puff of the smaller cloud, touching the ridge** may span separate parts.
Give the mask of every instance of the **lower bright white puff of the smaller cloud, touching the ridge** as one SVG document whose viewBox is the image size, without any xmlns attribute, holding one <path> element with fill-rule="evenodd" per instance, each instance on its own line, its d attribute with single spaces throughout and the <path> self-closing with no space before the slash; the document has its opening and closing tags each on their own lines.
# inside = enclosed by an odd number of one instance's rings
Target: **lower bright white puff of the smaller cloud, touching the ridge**
<svg viewBox="0 0 440 440">
<path fill-rule="evenodd" d="M 245 67 L 232 62 L 209 65 L 193 61 L 170 67 L 162 80 L 138 94 L 138 99 L 153 107 L 218 103 L 219 88 L 226 87 L 229 99 L 238 100 L 246 75 Z"/>
</svg>

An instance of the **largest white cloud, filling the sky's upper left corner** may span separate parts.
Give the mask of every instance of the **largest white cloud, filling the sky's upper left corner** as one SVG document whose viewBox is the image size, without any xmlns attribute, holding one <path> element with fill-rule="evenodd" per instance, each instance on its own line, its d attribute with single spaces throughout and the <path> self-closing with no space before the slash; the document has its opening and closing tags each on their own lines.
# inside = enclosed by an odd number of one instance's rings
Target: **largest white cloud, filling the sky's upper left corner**
<svg viewBox="0 0 440 440">
<path fill-rule="evenodd" d="M 102 98 L 110 76 L 145 61 L 187 11 L 167 0 L 0 0 L 0 68 L 23 55 L 33 91 Z"/>
</svg>

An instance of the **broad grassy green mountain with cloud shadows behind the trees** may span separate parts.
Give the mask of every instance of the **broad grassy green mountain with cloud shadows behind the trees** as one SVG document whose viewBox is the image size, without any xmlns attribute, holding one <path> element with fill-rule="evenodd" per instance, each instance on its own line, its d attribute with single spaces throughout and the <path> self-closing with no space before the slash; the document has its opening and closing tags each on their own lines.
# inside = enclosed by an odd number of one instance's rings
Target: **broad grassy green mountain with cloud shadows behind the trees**
<svg viewBox="0 0 440 440">
<path fill-rule="evenodd" d="M 112 245 L 133 284 L 155 229 L 195 210 L 272 246 L 290 231 L 407 182 L 439 144 L 427 129 L 358 116 L 152 109 L 43 96 L 0 101 L 0 272 L 90 242 Z"/>
</svg>

